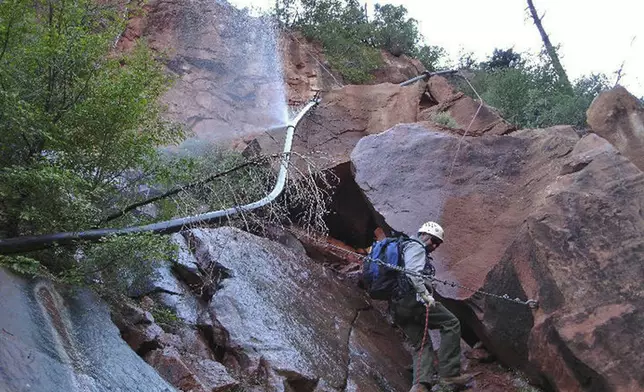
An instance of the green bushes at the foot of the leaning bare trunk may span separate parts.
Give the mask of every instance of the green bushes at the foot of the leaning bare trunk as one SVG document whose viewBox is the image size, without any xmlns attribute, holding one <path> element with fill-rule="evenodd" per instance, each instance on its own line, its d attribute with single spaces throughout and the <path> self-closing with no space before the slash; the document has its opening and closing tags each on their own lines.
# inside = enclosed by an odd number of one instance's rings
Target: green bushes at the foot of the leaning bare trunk
<svg viewBox="0 0 644 392">
<path fill-rule="evenodd" d="M 608 86 L 604 75 L 590 75 L 577 80 L 571 92 L 558 82 L 547 61 L 511 50 L 495 50 L 488 61 L 471 67 L 472 84 L 483 100 L 522 128 L 557 124 L 583 127 L 588 106 Z M 460 87 L 469 90 L 464 84 Z"/>
</svg>

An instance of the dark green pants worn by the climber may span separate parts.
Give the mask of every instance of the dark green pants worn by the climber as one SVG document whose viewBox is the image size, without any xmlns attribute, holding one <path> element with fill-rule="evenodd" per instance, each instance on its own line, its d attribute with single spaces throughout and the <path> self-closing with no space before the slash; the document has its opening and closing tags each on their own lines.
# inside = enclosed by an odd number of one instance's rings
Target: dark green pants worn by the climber
<svg viewBox="0 0 644 392">
<path fill-rule="evenodd" d="M 425 305 L 416 301 L 416 294 L 391 302 L 394 322 L 403 330 L 414 346 L 414 381 L 431 384 L 435 354 L 432 343 L 427 341 L 420 354 L 420 346 L 425 331 Z M 441 377 L 453 377 L 461 371 L 461 325 L 458 319 L 441 303 L 429 308 L 429 329 L 439 329 L 441 345 L 438 349 L 438 374 Z M 420 368 L 418 361 L 420 360 Z M 418 372 L 418 374 L 417 374 Z"/>
</svg>

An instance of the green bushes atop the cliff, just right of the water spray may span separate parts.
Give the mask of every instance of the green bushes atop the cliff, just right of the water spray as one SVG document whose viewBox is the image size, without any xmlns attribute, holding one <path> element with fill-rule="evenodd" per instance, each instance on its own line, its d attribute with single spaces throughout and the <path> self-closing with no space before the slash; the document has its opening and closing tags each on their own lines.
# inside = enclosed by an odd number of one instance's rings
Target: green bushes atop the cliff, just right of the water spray
<svg viewBox="0 0 644 392">
<path fill-rule="evenodd" d="M 421 45 L 415 19 L 404 6 L 375 5 L 368 20 L 357 0 L 277 0 L 273 16 L 284 28 L 301 31 L 322 43 L 331 66 L 350 83 L 366 83 L 382 64 L 380 49 L 418 57 L 435 70 L 442 48 Z"/>
</svg>

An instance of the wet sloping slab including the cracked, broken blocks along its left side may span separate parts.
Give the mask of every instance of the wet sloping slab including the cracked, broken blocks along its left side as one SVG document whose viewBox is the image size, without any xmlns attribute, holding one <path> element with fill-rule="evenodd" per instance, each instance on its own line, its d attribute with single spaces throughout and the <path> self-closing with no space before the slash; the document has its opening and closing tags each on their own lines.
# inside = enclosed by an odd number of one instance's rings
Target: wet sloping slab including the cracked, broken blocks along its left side
<svg viewBox="0 0 644 392">
<path fill-rule="evenodd" d="M 409 389 L 404 367 L 411 358 L 396 331 L 361 291 L 330 270 L 232 228 L 191 230 L 174 239 L 181 246 L 178 263 L 149 286 L 167 290 L 151 291 L 144 303 L 170 309 L 179 322 L 164 331 L 131 310 L 119 326 L 133 349 L 176 387 Z"/>
</svg>

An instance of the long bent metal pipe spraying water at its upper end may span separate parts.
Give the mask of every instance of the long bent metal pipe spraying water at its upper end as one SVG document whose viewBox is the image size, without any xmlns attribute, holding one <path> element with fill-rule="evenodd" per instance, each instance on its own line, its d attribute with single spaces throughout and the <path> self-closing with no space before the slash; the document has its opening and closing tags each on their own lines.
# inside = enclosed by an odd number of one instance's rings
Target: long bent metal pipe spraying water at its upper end
<svg viewBox="0 0 644 392">
<path fill-rule="evenodd" d="M 181 231 L 182 229 L 199 223 L 214 223 L 222 218 L 236 215 L 243 212 L 255 210 L 263 207 L 277 198 L 284 190 L 286 184 L 287 170 L 291 155 L 291 146 L 293 144 L 293 134 L 295 129 L 302 121 L 304 116 L 318 103 L 319 98 L 311 100 L 300 112 L 286 125 L 286 140 L 284 142 L 284 152 L 282 154 L 280 169 L 277 175 L 277 181 L 273 190 L 260 200 L 253 203 L 234 206 L 224 210 L 211 211 L 200 215 L 194 215 L 184 218 L 177 218 L 163 222 L 152 223 L 144 226 L 132 226 L 122 229 L 95 229 L 81 232 L 65 232 L 55 234 L 45 234 L 37 236 L 23 236 L 8 239 L 0 239 L 0 254 L 8 255 L 15 253 L 24 253 L 34 250 L 44 249 L 48 246 L 69 245 L 76 241 L 98 241 L 103 237 L 110 235 L 126 235 L 134 233 L 152 232 L 157 234 L 170 234 Z"/>
</svg>

